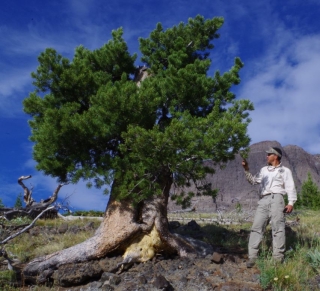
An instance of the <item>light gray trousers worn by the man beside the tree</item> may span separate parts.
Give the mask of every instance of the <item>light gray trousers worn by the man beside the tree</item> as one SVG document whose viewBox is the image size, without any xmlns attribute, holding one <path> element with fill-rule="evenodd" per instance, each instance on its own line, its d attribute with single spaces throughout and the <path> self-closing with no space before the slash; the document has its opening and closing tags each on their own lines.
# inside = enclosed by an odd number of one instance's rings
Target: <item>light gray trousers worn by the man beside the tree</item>
<svg viewBox="0 0 320 291">
<path fill-rule="evenodd" d="M 271 220 L 272 227 L 273 257 L 275 259 L 284 257 L 286 245 L 284 207 L 284 199 L 281 194 L 267 195 L 259 200 L 249 239 L 250 259 L 258 257 L 259 245 L 269 220 Z"/>
</svg>

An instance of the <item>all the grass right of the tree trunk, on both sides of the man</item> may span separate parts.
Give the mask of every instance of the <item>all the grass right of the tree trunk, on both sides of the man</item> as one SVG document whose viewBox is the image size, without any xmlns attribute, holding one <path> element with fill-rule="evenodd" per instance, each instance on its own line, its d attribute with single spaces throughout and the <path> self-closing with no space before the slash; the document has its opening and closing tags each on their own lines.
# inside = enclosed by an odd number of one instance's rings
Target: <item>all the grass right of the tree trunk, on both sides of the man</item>
<svg viewBox="0 0 320 291">
<path fill-rule="evenodd" d="M 170 215 L 172 220 L 177 217 L 198 220 L 199 216 L 201 217 L 201 214 L 197 213 L 185 215 L 180 213 L 175 214 L 175 217 Z M 217 217 L 217 215 L 211 214 L 211 217 Z M 225 217 L 236 216 L 233 213 Z M 226 250 L 244 249 L 246 252 L 251 223 L 241 219 L 240 213 L 233 222 L 201 224 L 206 234 L 205 240 Z M 311 210 L 295 211 L 287 216 L 287 223 L 290 227 L 286 228 L 287 252 L 283 264 L 277 264 L 272 259 L 271 228 L 268 226 L 266 229 L 257 263 L 261 287 L 274 291 L 320 290 L 320 286 L 313 283 L 320 272 L 320 213 Z M 192 235 L 192 232 L 189 235 Z"/>
</svg>

